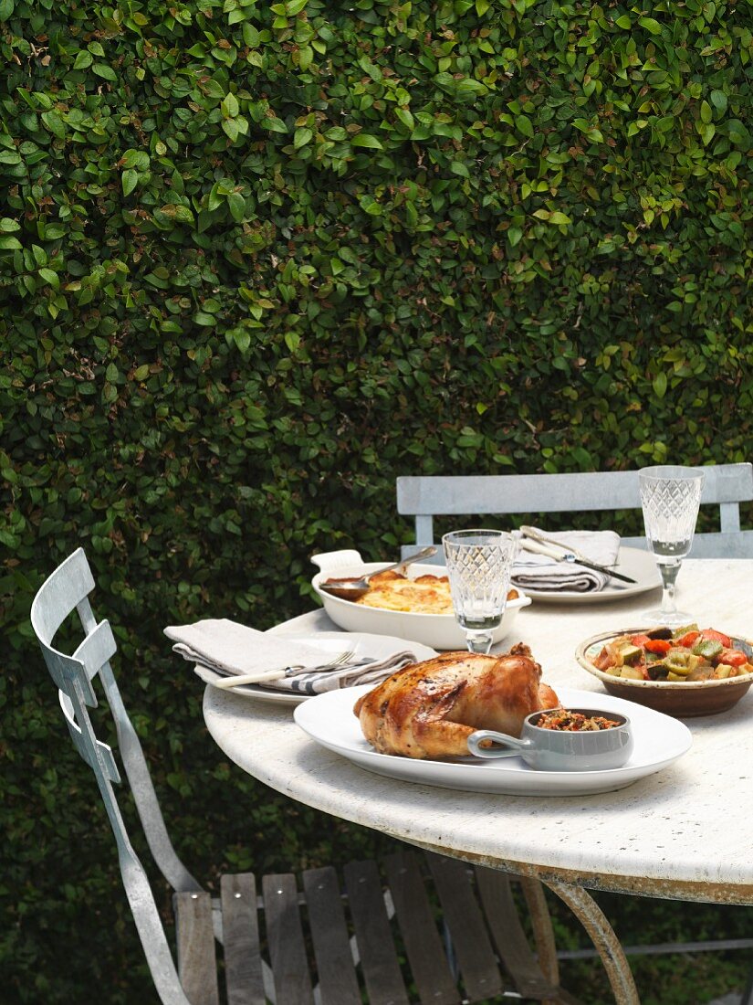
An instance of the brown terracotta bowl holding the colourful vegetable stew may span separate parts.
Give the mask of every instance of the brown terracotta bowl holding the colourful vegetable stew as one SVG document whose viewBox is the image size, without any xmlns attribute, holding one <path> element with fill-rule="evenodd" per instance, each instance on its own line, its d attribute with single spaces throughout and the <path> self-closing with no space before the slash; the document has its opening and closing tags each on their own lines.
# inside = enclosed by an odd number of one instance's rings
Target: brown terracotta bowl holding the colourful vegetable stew
<svg viewBox="0 0 753 1005">
<path fill-rule="evenodd" d="M 723 680 L 632 680 L 604 673 L 593 665 L 604 643 L 618 635 L 638 635 L 646 628 L 625 628 L 622 631 L 602 632 L 581 642 L 575 650 L 575 658 L 580 665 L 601 681 L 609 694 L 637 701 L 649 709 L 663 712 L 677 719 L 693 716 L 715 716 L 727 712 L 740 700 L 753 684 L 753 673 L 741 677 L 727 677 Z M 736 647 L 750 649 L 751 643 L 745 639 L 732 637 Z"/>
</svg>

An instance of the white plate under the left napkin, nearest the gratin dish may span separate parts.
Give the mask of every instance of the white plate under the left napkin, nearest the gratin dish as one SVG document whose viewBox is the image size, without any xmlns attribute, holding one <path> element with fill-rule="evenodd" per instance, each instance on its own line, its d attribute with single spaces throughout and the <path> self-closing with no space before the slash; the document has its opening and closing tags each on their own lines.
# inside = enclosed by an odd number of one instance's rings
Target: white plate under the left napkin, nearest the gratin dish
<svg viewBox="0 0 753 1005">
<path fill-rule="evenodd" d="M 280 635 L 280 632 L 275 632 Z M 404 638 L 392 638 L 389 635 L 368 635 L 359 632 L 325 631 L 316 635 L 288 635 L 284 637 L 291 642 L 305 642 L 312 648 L 321 649 L 322 662 L 326 662 L 327 656 L 334 656 L 343 649 L 353 649 L 353 659 L 386 659 L 392 652 L 413 652 L 416 661 L 431 659 L 437 652 L 430 649 L 428 645 L 421 645 L 419 642 L 407 642 Z M 270 666 L 270 669 L 273 667 Z M 364 667 L 365 669 L 365 667 Z M 195 666 L 194 672 L 208 684 L 214 684 L 221 677 L 219 673 L 214 673 L 206 666 Z M 373 686 L 371 685 L 366 685 Z M 228 688 L 223 688 L 228 690 Z M 344 687 L 340 693 L 351 693 L 352 687 Z M 273 701 L 278 705 L 300 705 L 301 701 L 311 699 L 309 694 L 298 694 L 292 691 L 275 690 L 273 687 L 262 687 L 260 684 L 242 684 L 240 687 L 231 687 L 232 694 L 242 694 L 245 697 L 255 698 L 257 701 Z M 355 700 L 355 698 L 353 698 Z"/>
</svg>

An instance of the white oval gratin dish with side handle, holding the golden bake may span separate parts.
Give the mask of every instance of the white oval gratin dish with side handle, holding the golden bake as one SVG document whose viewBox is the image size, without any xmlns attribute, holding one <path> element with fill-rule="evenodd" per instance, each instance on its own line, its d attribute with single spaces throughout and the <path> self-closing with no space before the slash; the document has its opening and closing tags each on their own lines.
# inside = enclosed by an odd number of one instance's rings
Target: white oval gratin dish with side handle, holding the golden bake
<svg viewBox="0 0 753 1005">
<path fill-rule="evenodd" d="M 455 620 L 454 614 L 415 614 L 411 611 L 389 611 L 380 607 L 365 607 L 363 604 L 354 604 L 350 600 L 333 597 L 319 587 L 319 584 L 327 579 L 363 576 L 367 573 L 379 572 L 390 563 L 364 562 L 358 552 L 347 549 L 313 555 L 311 561 L 320 570 L 311 580 L 311 585 L 324 605 L 327 615 L 345 631 L 395 635 L 398 638 L 429 645 L 433 649 L 464 650 L 466 648 L 465 632 Z M 416 563 L 408 566 L 406 575 L 409 579 L 416 579 L 418 576 L 446 576 L 447 570 L 443 566 Z M 531 602 L 530 597 L 526 597 L 519 589 L 517 592 L 519 593 L 518 598 L 508 600 L 502 622 L 494 631 L 495 643 L 501 642 L 509 634 L 518 611 L 521 607 L 527 607 Z"/>
</svg>

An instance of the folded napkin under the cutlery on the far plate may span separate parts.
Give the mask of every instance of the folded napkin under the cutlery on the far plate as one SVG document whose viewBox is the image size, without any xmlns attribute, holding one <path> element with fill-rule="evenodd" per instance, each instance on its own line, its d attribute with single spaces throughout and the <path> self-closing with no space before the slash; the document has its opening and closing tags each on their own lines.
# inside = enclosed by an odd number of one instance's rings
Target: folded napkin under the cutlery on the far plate
<svg viewBox="0 0 753 1005">
<path fill-rule="evenodd" d="M 534 528 L 536 530 L 536 528 Z M 613 566 L 619 551 L 619 535 L 613 531 L 562 531 L 546 534 L 565 549 L 574 548 L 584 558 L 597 565 Z M 557 562 L 546 555 L 527 552 L 521 541 L 518 556 L 512 568 L 512 582 L 522 590 L 573 593 L 593 593 L 603 590 L 609 577 L 595 569 L 586 569 L 575 562 Z"/>
</svg>

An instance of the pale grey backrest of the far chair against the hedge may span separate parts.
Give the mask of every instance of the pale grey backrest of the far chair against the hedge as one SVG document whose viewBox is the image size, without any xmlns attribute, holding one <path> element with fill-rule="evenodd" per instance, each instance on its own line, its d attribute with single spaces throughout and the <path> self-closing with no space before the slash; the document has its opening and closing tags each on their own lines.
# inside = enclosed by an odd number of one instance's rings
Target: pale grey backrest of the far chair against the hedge
<svg viewBox="0 0 753 1005">
<path fill-rule="evenodd" d="M 720 531 L 697 534 L 693 558 L 753 556 L 753 531 L 740 530 L 740 502 L 753 499 L 753 465 L 704 467 L 701 504 L 716 505 Z M 398 478 L 398 513 L 415 517 L 416 544 L 403 557 L 434 544 L 434 517 L 561 514 L 640 510 L 639 472 L 585 471 L 564 474 L 410 475 Z M 646 538 L 622 543 L 646 548 Z M 443 561 L 440 554 L 436 561 Z"/>
</svg>

